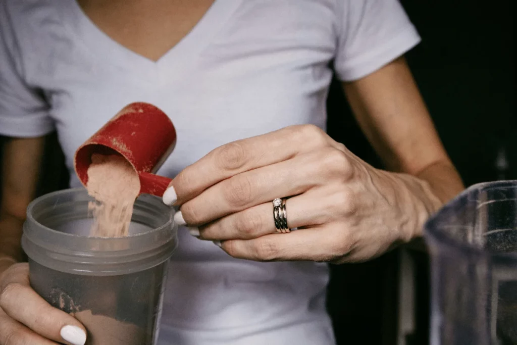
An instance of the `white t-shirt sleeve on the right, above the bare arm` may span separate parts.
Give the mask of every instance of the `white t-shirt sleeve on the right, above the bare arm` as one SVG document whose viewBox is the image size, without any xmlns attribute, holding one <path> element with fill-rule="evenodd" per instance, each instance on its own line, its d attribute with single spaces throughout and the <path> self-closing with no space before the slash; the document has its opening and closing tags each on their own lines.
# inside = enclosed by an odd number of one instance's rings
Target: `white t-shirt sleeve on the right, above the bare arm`
<svg viewBox="0 0 517 345">
<path fill-rule="evenodd" d="M 387 65 L 420 42 L 399 0 L 337 0 L 334 69 L 353 81 Z"/>
</svg>

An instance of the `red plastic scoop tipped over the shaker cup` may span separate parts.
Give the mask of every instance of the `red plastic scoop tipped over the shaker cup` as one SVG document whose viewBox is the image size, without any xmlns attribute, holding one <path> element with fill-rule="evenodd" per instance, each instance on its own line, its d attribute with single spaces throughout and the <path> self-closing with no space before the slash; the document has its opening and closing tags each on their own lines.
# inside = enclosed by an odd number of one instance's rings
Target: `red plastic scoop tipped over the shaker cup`
<svg viewBox="0 0 517 345">
<path fill-rule="evenodd" d="M 74 168 L 82 184 L 88 182 L 88 167 L 95 153 L 120 154 L 140 177 L 140 193 L 163 196 L 171 182 L 155 175 L 176 144 L 171 119 L 152 104 L 128 104 L 75 152 Z"/>
</svg>

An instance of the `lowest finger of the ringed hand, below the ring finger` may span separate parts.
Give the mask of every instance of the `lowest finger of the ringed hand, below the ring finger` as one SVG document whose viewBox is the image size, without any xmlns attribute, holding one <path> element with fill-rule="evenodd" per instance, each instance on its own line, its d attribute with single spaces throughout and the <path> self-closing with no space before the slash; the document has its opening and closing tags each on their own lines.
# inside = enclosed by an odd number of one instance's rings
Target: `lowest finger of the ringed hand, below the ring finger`
<svg viewBox="0 0 517 345">
<path fill-rule="evenodd" d="M 353 241 L 343 229 L 323 226 L 253 239 L 231 239 L 221 245 L 224 251 L 239 259 L 329 262 L 346 254 Z"/>
</svg>

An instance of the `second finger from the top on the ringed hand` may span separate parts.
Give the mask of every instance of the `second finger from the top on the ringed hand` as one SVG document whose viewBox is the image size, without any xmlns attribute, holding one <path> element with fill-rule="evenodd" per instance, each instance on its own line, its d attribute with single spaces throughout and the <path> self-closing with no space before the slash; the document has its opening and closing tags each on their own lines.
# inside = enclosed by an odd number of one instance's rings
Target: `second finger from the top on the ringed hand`
<svg viewBox="0 0 517 345">
<path fill-rule="evenodd" d="M 352 172 L 344 153 L 322 149 L 225 179 L 181 205 L 174 219 L 180 225 L 200 226 L 275 198 L 342 182 Z"/>
</svg>

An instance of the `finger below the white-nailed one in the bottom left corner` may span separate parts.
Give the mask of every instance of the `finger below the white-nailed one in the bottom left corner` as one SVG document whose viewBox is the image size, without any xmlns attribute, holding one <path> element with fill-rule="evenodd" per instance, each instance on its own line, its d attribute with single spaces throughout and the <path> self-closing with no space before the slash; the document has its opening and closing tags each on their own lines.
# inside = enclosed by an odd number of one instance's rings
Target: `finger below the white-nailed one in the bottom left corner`
<svg viewBox="0 0 517 345">
<path fill-rule="evenodd" d="M 0 344 L 8 345 L 58 345 L 34 333 L 0 309 Z"/>
</svg>

